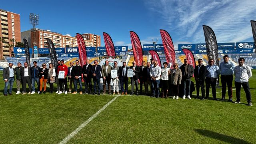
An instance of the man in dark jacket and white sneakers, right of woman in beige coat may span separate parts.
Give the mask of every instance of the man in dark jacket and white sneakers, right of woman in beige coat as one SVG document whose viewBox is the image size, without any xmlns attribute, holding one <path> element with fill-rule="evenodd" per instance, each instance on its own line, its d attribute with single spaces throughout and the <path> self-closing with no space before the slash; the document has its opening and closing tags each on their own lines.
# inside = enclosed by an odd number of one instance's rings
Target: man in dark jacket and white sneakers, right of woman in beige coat
<svg viewBox="0 0 256 144">
<path fill-rule="evenodd" d="M 188 59 L 184 59 L 184 64 L 180 66 L 180 70 L 182 72 L 182 80 L 181 84 L 183 85 L 183 99 L 188 96 L 190 98 L 190 84 L 191 84 L 191 77 L 194 74 L 194 68 L 192 65 L 188 64 Z M 186 91 L 187 90 L 187 91 Z"/>
</svg>

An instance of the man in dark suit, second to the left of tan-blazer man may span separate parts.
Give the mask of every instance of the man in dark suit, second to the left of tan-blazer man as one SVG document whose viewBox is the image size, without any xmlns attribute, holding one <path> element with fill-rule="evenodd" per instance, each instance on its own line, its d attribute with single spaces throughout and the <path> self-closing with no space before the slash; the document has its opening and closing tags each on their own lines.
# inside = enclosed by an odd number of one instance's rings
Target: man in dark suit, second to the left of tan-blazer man
<svg viewBox="0 0 256 144">
<path fill-rule="evenodd" d="M 82 73 L 84 75 L 84 87 L 85 92 L 84 94 L 91 94 L 92 93 L 92 65 L 89 64 L 89 60 L 86 60 L 86 64 L 82 68 Z M 88 92 L 88 85 L 89 85 L 89 92 Z"/>
</svg>

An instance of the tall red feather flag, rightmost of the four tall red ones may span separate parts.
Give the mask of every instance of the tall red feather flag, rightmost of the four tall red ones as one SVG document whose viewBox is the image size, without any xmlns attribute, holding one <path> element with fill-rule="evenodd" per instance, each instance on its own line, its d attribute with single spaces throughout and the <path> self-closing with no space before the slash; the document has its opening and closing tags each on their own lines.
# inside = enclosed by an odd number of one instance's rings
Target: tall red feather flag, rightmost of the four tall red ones
<svg viewBox="0 0 256 144">
<path fill-rule="evenodd" d="M 166 56 L 166 61 L 167 63 L 172 63 L 171 68 L 173 68 L 173 64 L 176 63 L 176 60 L 175 60 L 175 51 L 172 43 L 172 38 L 170 34 L 165 30 L 160 30 L 160 34 L 161 34 L 162 42 L 164 45 L 164 53 Z"/>
</svg>

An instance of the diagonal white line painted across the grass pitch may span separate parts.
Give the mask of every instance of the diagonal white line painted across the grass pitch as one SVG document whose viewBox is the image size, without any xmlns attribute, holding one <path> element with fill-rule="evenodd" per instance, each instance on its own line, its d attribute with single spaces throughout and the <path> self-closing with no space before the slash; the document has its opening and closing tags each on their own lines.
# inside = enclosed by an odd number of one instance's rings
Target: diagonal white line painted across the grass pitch
<svg viewBox="0 0 256 144">
<path fill-rule="evenodd" d="M 112 100 L 110 100 L 105 106 L 103 106 L 98 112 L 96 112 L 94 115 L 92 115 L 86 122 L 78 126 L 76 130 L 74 130 L 71 134 L 69 134 L 66 138 L 64 138 L 59 144 L 66 144 L 71 138 L 73 138 L 82 128 L 84 128 L 90 121 L 92 121 L 100 112 L 102 112 L 106 107 L 108 107 L 114 100 L 116 100 L 118 96 L 114 97 Z"/>
</svg>

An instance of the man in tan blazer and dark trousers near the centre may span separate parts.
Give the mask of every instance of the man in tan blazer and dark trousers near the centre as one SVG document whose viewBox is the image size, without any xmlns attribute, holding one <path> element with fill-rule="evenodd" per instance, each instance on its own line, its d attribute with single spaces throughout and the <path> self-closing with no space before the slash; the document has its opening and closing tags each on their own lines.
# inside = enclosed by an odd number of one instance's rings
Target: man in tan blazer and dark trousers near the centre
<svg viewBox="0 0 256 144">
<path fill-rule="evenodd" d="M 111 81 L 111 66 L 108 65 L 108 60 L 105 61 L 105 64 L 101 67 L 101 75 L 103 78 L 103 93 L 106 94 L 106 83 L 108 83 L 108 93 L 110 92 L 110 81 Z"/>
</svg>

